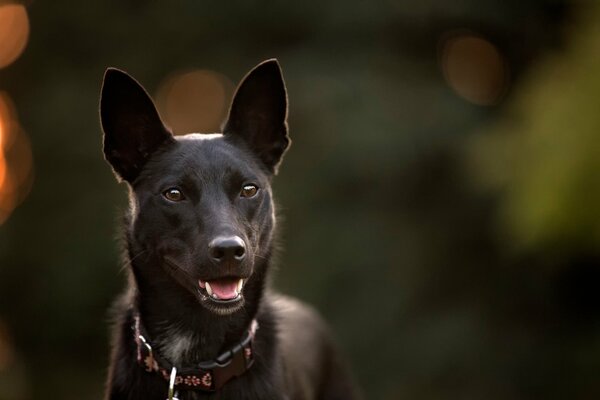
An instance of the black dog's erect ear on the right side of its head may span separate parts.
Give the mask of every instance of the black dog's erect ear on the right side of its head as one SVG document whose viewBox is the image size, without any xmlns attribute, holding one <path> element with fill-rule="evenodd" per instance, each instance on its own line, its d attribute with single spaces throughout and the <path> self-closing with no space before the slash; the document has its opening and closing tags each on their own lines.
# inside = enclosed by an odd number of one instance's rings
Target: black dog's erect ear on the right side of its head
<svg viewBox="0 0 600 400">
<path fill-rule="evenodd" d="M 290 144 L 287 134 L 287 94 L 279 63 L 256 66 L 238 86 L 223 133 L 241 137 L 275 174 Z"/>
</svg>

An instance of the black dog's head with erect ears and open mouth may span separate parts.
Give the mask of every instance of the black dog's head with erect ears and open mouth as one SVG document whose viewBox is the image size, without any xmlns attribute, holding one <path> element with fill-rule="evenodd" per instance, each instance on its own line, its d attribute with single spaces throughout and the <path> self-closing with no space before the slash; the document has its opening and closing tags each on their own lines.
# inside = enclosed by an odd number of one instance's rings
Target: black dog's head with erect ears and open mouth
<svg viewBox="0 0 600 400">
<path fill-rule="evenodd" d="M 218 314 L 240 309 L 245 285 L 262 285 L 253 276 L 271 251 L 270 181 L 290 143 L 277 61 L 242 80 L 223 133 L 173 136 L 116 69 L 104 76 L 100 116 L 105 158 L 130 188 L 130 257 L 145 260 L 136 278 L 175 282 Z"/>
</svg>

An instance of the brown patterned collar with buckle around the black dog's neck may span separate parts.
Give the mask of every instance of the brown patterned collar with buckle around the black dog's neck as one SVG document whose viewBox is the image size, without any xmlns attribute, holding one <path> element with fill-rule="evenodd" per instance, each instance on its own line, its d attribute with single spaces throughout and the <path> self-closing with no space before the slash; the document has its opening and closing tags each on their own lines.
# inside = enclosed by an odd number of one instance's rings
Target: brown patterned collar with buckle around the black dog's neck
<svg viewBox="0 0 600 400">
<path fill-rule="evenodd" d="M 133 314 L 133 319 L 138 364 L 147 372 L 158 373 L 168 382 L 175 365 L 152 349 L 149 336 L 140 321 L 138 313 Z M 231 379 L 242 375 L 254 363 L 252 342 L 257 329 L 258 323 L 256 320 L 252 320 L 242 340 L 231 349 L 220 354 L 216 359 L 202 361 L 194 366 L 178 367 L 175 376 L 175 387 L 183 390 L 215 392 Z"/>
</svg>

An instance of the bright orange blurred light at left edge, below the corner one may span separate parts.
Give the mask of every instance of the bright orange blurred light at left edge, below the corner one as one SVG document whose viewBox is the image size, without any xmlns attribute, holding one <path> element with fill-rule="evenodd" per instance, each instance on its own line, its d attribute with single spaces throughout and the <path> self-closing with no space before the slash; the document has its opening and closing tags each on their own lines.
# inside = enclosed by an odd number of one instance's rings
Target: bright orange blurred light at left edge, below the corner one
<svg viewBox="0 0 600 400">
<path fill-rule="evenodd" d="M 6 93 L 0 92 L 0 224 L 29 194 L 33 156 L 29 138 Z"/>
</svg>

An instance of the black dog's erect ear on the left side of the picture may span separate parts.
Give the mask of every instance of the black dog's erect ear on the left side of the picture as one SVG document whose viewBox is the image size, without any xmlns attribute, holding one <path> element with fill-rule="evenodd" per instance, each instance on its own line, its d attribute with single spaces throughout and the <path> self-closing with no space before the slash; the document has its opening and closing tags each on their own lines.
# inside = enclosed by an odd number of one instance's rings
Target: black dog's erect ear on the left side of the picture
<svg viewBox="0 0 600 400">
<path fill-rule="evenodd" d="M 159 146 L 175 140 L 144 88 L 118 69 L 109 68 L 104 74 L 100 119 L 104 157 L 130 183 Z"/>
</svg>

